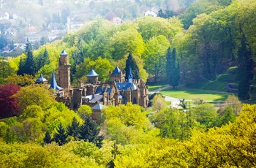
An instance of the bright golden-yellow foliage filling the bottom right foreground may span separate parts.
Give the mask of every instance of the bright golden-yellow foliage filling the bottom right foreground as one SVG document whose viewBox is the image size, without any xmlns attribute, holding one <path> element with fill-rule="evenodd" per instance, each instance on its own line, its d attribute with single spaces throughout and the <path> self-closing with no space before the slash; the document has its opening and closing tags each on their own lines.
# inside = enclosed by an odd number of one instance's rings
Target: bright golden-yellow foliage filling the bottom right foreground
<svg viewBox="0 0 256 168">
<path fill-rule="evenodd" d="M 159 139 L 117 156 L 116 167 L 254 167 L 256 104 L 244 104 L 235 123 L 193 131 L 190 140 Z M 127 150 L 125 150 L 127 151 Z"/>
</svg>

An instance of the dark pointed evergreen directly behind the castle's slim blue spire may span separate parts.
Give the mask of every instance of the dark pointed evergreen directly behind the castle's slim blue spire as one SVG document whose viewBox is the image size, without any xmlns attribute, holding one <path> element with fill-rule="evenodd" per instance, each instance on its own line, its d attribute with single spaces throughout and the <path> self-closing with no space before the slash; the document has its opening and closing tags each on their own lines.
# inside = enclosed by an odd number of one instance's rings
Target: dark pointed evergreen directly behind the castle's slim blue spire
<svg viewBox="0 0 256 168">
<path fill-rule="evenodd" d="M 125 79 L 126 80 L 128 80 L 129 67 L 131 67 L 131 69 L 132 69 L 132 77 L 135 80 L 140 79 L 139 67 L 135 61 L 135 58 L 133 58 L 133 56 L 132 56 L 132 52 L 129 52 L 129 56 L 128 56 L 126 64 L 125 64 L 125 72 L 126 72 Z"/>
</svg>

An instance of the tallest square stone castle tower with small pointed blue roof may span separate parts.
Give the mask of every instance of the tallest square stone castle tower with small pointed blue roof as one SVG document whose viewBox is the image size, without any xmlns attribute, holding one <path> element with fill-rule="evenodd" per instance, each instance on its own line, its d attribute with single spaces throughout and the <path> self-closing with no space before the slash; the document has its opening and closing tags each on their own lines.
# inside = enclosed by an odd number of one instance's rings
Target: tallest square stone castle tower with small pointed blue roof
<svg viewBox="0 0 256 168">
<path fill-rule="evenodd" d="M 70 88 L 70 64 L 65 50 L 62 50 L 59 58 L 59 85 L 61 88 Z"/>
</svg>

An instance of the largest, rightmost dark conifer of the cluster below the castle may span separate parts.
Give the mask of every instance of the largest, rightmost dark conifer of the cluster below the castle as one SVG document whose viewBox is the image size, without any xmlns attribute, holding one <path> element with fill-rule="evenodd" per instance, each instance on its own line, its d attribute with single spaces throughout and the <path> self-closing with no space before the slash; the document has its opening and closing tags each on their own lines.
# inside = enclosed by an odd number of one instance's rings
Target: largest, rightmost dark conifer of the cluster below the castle
<svg viewBox="0 0 256 168">
<path fill-rule="evenodd" d="M 83 119 L 84 123 L 80 126 L 80 140 L 88 140 L 89 142 L 93 142 L 97 147 L 101 148 L 103 136 L 98 136 L 99 128 L 97 123 L 93 121 L 89 115 Z"/>
</svg>

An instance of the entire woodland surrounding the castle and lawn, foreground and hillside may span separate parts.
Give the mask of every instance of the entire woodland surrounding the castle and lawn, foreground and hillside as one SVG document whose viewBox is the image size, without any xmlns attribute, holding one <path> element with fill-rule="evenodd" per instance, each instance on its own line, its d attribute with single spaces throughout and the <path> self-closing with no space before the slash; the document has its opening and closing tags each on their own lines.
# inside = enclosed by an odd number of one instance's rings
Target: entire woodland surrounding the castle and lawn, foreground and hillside
<svg viewBox="0 0 256 168">
<path fill-rule="evenodd" d="M 120 25 L 98 17 L 38 50 L 28 43 L 21 56 L 1 58 L 1 167 L 255 167 L 256 106 L 239 101 L 254 98 L 255 11 L 253 0 L 199 0 L 175 16 L 164 10 Z M 63 49 L 73 86 L 91 69 L 108 80 L 131 52 L 145 81 L 175 89 L 231 72 L 238 97 L 218 109 L 200 101 L 176 109 L 157 95 L 151 115 L 136 104 L 110 106 L 98 124 L 89 106 L 69 110 L 45 85 L 31 85 L 40 74 L 50 81 Z M 170 56 L 178 83 L 170 83 Z"/>
</svg>

